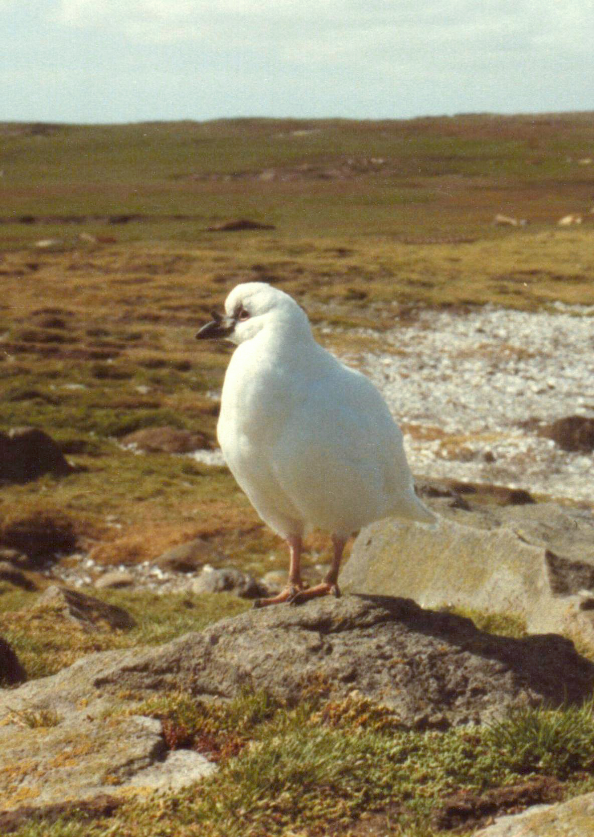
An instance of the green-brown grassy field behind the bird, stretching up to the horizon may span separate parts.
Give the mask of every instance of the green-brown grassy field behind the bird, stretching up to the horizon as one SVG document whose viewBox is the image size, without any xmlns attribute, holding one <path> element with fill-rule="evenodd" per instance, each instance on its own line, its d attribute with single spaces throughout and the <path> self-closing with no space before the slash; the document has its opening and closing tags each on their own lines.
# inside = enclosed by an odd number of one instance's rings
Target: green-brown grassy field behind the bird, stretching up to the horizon
<svg viewBox="0 0 594 837">
<path fill-rule="evenodd" d="M 258 565 L 276 542 L 227 473 L 187 463 L 188 488 L 171 457 L 114 443 L 160 424 L 214 443 L 228 349 L 194 341 L 209 311 L 269 281 L 340 326 L 322 339 L 341 350 L 370 345 L 352 326 L 411 306 L 592 304 L 592 148 L 591 113 L 4 124 L 0 428 L 41 427 L 87 469 L 49 493 L 105 560 L 196 532 L 237 551 L 251 527 L 238 559 Z M 568 212 L 583 223 L 558 227 Z M 274 229 L 207 230 L 238 218 Z M 7 486 L 0 516 L 47 504 L 43 482 Z M 103 524 L 116 506 L 118 537 Z"/>
</svg>

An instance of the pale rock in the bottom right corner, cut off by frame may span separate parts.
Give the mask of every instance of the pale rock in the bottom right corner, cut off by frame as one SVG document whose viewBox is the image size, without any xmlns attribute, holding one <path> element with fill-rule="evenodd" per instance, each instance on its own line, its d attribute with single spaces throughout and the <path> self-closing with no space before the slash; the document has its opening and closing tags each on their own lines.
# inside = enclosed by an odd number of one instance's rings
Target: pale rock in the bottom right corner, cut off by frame
<svg viewBox="0 0 594 837">
<path fill-rule="evenodd" d="M 474 837 L 591 837 L 594 793 L 556 805 L 537 805 L 523 814 L 501 817 Z"/>
</svg>

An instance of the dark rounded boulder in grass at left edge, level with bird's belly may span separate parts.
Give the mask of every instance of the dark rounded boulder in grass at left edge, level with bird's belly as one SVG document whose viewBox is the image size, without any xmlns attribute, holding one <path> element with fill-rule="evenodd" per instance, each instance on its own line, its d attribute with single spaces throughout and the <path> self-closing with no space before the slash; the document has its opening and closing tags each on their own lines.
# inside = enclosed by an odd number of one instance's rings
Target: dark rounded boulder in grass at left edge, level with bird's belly
<svg viewBox="0 0 594 837">
<path fill-rule="evenodd" d="M 33 427 L 0 433 L 0 480 L 29 482 L 42 474 L 66 475 L 72 465 L 47 433 Z"/>
</svg>

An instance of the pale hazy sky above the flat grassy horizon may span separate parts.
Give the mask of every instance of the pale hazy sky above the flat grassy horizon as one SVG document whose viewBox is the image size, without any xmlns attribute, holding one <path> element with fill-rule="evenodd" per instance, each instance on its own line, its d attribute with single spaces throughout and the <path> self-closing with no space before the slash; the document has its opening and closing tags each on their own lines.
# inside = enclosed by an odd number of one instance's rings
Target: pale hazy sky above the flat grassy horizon
<svg viewBox="0 0 594 837">
<path fill-rule="evenodd" d="M 0 0 L 0 121 L 594 110 L 594 0 Z"/>
</svg>

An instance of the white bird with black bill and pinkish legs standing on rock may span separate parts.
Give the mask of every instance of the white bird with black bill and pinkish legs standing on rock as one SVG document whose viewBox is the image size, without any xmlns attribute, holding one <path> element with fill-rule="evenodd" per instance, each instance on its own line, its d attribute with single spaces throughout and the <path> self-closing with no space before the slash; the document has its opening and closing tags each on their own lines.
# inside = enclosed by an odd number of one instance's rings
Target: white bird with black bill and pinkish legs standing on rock
<svg viewBox="0 0 594 837">
<path fill-rule="evenodd" d="M 282 290 L 237 285 L 198 339 L 237 345 L 229 362 L 218 442 L 259 516 L 289 544 L 289 582 L 259 606 L 328 593 L 348 537 L 387 516 L 431 523 L 417 498 L 402 433 L 371 381 L 314 339 L 310 321 Z M 334 558 L 323 583 L 301 579 L 305 532 L 330 532 Z"/>
</svg>

